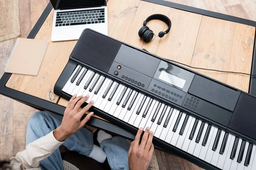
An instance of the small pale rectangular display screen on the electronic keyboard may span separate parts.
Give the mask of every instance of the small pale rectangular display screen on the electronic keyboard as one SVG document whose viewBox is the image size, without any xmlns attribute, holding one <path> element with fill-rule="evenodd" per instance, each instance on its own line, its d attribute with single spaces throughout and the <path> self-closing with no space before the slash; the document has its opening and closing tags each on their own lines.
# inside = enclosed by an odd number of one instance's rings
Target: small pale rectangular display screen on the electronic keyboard
<svg viewBox="0 0 256 170">
<path fill-rule="evenodd" d="M 161 71 L 158 78 L 172 85 L 175 85 L 181 89 L 184 87 L 186 82 L 186 80 L 176 77 L 172 74 L 166 73 L 165 71 Z"/>
</svg>

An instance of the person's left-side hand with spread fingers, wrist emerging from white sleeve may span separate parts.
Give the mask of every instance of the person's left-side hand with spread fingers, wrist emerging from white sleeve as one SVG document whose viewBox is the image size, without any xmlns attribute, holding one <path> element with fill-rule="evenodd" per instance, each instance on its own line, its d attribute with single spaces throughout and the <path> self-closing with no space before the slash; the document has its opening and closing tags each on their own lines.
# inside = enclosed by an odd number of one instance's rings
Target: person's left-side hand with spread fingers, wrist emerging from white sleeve
<svg viewBox="0 0 256 170">
<path fill-rule="evenodd" d="M 79 108 L 89 98 L 89 96 L 78 96 L 76 94 L 70 99 L 67 108 L 64 111 L 64 116 L 61 125 L 53 131 L 53 136 L 58 141 L 64 141 L 74 133 L 76 133 L 85 123 L 90 120 L 93 112 L 88 112 L 93 105 L 93 101 L 89 102 L 81 111 Z M 81 117 L 87 113 L 87 116 L 81 120 Z"/>
</svg>

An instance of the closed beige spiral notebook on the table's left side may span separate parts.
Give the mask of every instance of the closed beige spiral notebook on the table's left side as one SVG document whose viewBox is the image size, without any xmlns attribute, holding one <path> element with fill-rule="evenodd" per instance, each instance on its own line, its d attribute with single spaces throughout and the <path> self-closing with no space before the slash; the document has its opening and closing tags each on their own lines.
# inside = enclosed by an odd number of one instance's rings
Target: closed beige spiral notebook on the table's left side
<svg viewBox="0 0 256 170">
<path fill-rule="evenodd" d="M 47 40 L 18 38 L 4 71 L 37 76 L 48 45 Z"/>
</svg>

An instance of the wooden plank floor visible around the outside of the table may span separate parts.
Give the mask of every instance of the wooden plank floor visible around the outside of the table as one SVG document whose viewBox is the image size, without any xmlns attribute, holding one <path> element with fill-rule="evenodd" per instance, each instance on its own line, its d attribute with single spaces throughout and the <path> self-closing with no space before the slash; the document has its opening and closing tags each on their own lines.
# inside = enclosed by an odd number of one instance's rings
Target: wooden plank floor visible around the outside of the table
<svg viewBox="0 0 256 170">
<path fill-rule="evenodd" d="M 169 0 L 188 6 L 256 21 L 256 0 Z M 27 37 L 49 0 L 20 0 L 21 36 Z M 16 39 L 0 42 L 0 77 Z M 0 159 L 9 159 L 24 150 L 26 122 L 35 109 L 0 96 Z M 198 166 L 160 151 L 155 151 L 152 170 L 198 170 Z"/>
</svg>

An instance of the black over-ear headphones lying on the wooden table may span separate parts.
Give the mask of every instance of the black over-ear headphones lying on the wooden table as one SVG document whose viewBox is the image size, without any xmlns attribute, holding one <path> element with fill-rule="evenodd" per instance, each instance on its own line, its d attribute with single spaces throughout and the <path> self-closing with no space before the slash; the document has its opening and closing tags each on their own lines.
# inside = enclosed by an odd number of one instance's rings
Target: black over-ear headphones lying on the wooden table
<svg viewBox="0 0 256 170">
<path fill-rule="evenodd" d="M 153 37 L 154 37 L 154 32 L 149 29 L 147 26 L 146 26 L 146 23 L 150 20 L 161 20 L 163 22 L 165 22 L 167 25 L 168 25 L 168 29 L 166 31 L 160 31 L 158 33 L 158 37 L 162 38 L 165 34 L 167 34 L 170 29 L 171 29 L 171 26 L 172 26 L 172 22 L 171 20 L 166 17 L 165 15 L 162 15 L 162 14 L 153 14 L 153 15 L 150 15 L 144 22 L 143 22 L 143 27 L 140 28 L 139 30 L 139 37 L 141 39 L 143 39 L 144 42 L 150 42 Z M 156 36 L 156 37 L 157 37 Z"/>
</svg>

